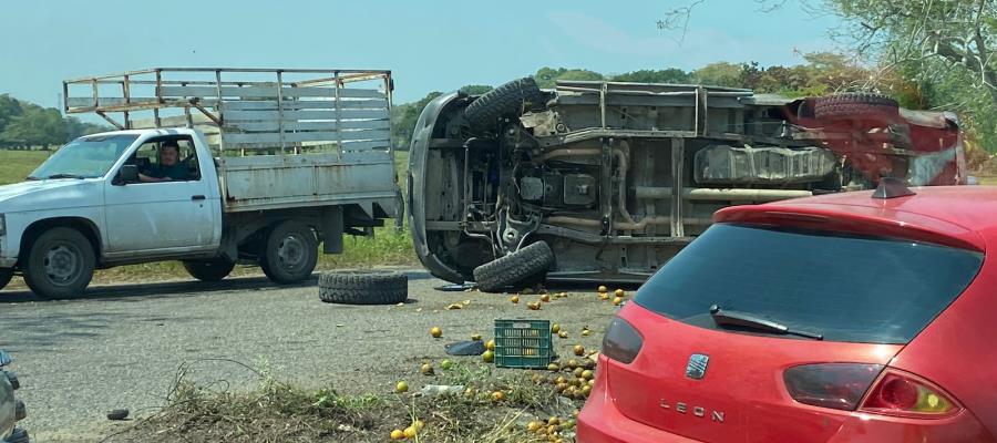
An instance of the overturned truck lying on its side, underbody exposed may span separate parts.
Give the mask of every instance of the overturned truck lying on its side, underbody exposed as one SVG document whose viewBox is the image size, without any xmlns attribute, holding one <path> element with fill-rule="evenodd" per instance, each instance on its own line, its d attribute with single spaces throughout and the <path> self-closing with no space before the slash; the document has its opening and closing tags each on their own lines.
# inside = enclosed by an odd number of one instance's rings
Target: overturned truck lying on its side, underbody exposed
<svg viewBox="0 0 997 443">
<path fill-rule="evenodd" d="M 522 79 L 429 103 L 409 217 L 422 264 L 453 282 L 643 282 L 720 208 L 886 176 L 963 184 L 955 115 L 867 93 Z"/>
</svg>

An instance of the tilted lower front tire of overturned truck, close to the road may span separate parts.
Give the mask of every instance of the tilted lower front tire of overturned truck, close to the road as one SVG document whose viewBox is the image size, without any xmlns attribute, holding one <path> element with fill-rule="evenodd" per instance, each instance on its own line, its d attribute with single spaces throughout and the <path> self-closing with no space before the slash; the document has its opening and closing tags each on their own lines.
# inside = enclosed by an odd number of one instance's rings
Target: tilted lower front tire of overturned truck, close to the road
<svg viewBox="0 0 997 443">
<path fill-rule="evenodd" d="M 544 274 L 553 265 L 554 251 L 546 243 L 537 241 L 474 268 L 474 281 L 485 292 L 498 292 Z"/>
</svg>

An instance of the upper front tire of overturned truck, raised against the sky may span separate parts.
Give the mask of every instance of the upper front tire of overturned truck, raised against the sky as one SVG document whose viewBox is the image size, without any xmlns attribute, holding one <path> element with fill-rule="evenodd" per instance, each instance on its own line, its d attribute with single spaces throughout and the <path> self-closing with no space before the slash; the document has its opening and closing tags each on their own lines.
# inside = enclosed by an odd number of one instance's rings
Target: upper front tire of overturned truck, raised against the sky
<svg viewBox="0 0 997 443">
<path fill-rule="evenodd" d="M 486 130 L 494 126 L 498 117 L 520 111 L 523 102 L 539 104 L 543 97 L 533 78 L 514 80 L 471 102 L 464 109 L 464 120 L 473 130 Z"/>
</svg>

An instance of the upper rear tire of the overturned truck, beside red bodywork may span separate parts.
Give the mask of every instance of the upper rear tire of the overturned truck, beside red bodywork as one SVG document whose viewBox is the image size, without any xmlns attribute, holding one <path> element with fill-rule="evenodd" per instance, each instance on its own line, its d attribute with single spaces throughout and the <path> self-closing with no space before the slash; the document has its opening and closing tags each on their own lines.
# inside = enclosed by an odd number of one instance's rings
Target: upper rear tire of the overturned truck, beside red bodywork
<svg viewBox="0 0 997 443">
<path fill-rule="evenodd" d="M 860 121 L 895 123 L 900 120 L 900 104 L 881 94 L 850 92 L 816 100 L 814 116 L 821 121 Z"/>
</svg>

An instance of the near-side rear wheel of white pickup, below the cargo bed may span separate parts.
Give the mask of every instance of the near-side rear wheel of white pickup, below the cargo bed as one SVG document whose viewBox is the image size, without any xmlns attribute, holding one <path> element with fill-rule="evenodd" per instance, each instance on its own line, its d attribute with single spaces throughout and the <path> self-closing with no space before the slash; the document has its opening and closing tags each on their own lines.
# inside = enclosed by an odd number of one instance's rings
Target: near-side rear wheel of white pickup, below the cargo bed
<svg viewBox="0 0 997 443">
<path fill-rule="evenodd" d="M 259 266 L 267 278 L 278 284 L 307 280 L 318 261 L 315 233 L 298 222 L 281 222 L 267 236 Z"/>
</svg>

